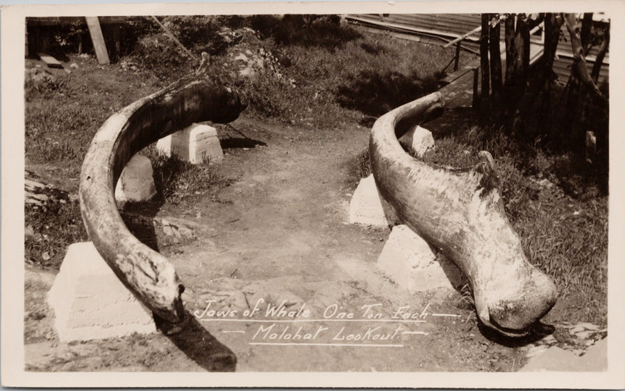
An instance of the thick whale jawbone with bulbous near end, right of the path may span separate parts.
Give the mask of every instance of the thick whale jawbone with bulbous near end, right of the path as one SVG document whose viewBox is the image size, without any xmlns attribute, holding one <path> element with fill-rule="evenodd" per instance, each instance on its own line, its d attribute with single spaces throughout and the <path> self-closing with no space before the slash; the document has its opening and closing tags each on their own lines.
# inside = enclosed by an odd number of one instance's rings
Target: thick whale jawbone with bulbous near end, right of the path
<svg viewBox="0 0 625 391">
<path fill-rule="evenodd" d="M 397 138 L 443 108 L 439 92 L 380 117 L 369 139 L 376 184 L 398 217 L 467 275 L 481 322 L 524 335 L 556 302 L 556 286 L 531 265 L 510 227 L 490 153 L 471 169 L 432 167 Z"/>
</svg>

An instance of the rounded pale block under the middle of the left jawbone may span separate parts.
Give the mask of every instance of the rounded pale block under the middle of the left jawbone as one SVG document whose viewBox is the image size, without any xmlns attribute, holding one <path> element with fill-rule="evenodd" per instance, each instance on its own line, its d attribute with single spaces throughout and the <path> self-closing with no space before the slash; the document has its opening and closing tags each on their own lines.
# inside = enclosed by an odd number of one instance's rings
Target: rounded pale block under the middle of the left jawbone
<svg viewBox="0 0 625 391">
<path fill-rule="evenodd" d="M 115 187 L 118 205 L 126 201 L 147 201 L 156 194 L 152 163 L 149 158 L 135 155 L 128 162 Z"/>
</svg>

